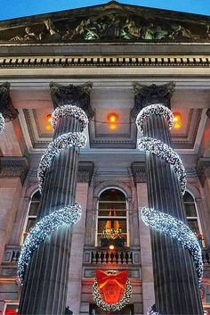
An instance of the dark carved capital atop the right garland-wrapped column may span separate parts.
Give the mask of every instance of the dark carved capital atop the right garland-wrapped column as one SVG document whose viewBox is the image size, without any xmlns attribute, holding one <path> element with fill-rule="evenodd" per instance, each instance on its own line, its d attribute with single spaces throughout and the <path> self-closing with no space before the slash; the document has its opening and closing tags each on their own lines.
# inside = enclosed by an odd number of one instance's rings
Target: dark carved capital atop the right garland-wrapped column
<svg viewBox="0 0 210 315">
<path fill-rule="evenodd" d="M 161 86 L 157 86 L 156 84 L 145 86 L 139 82 L 133 82 L 135 104 L 131 111 L 132 118 L 135 119 L 141 109 L 150 104 L 163 104 L 171 108 L 171 97 L 174 93 L 174 88 L 174 82 L 169 82 Z"/>
</svg>

